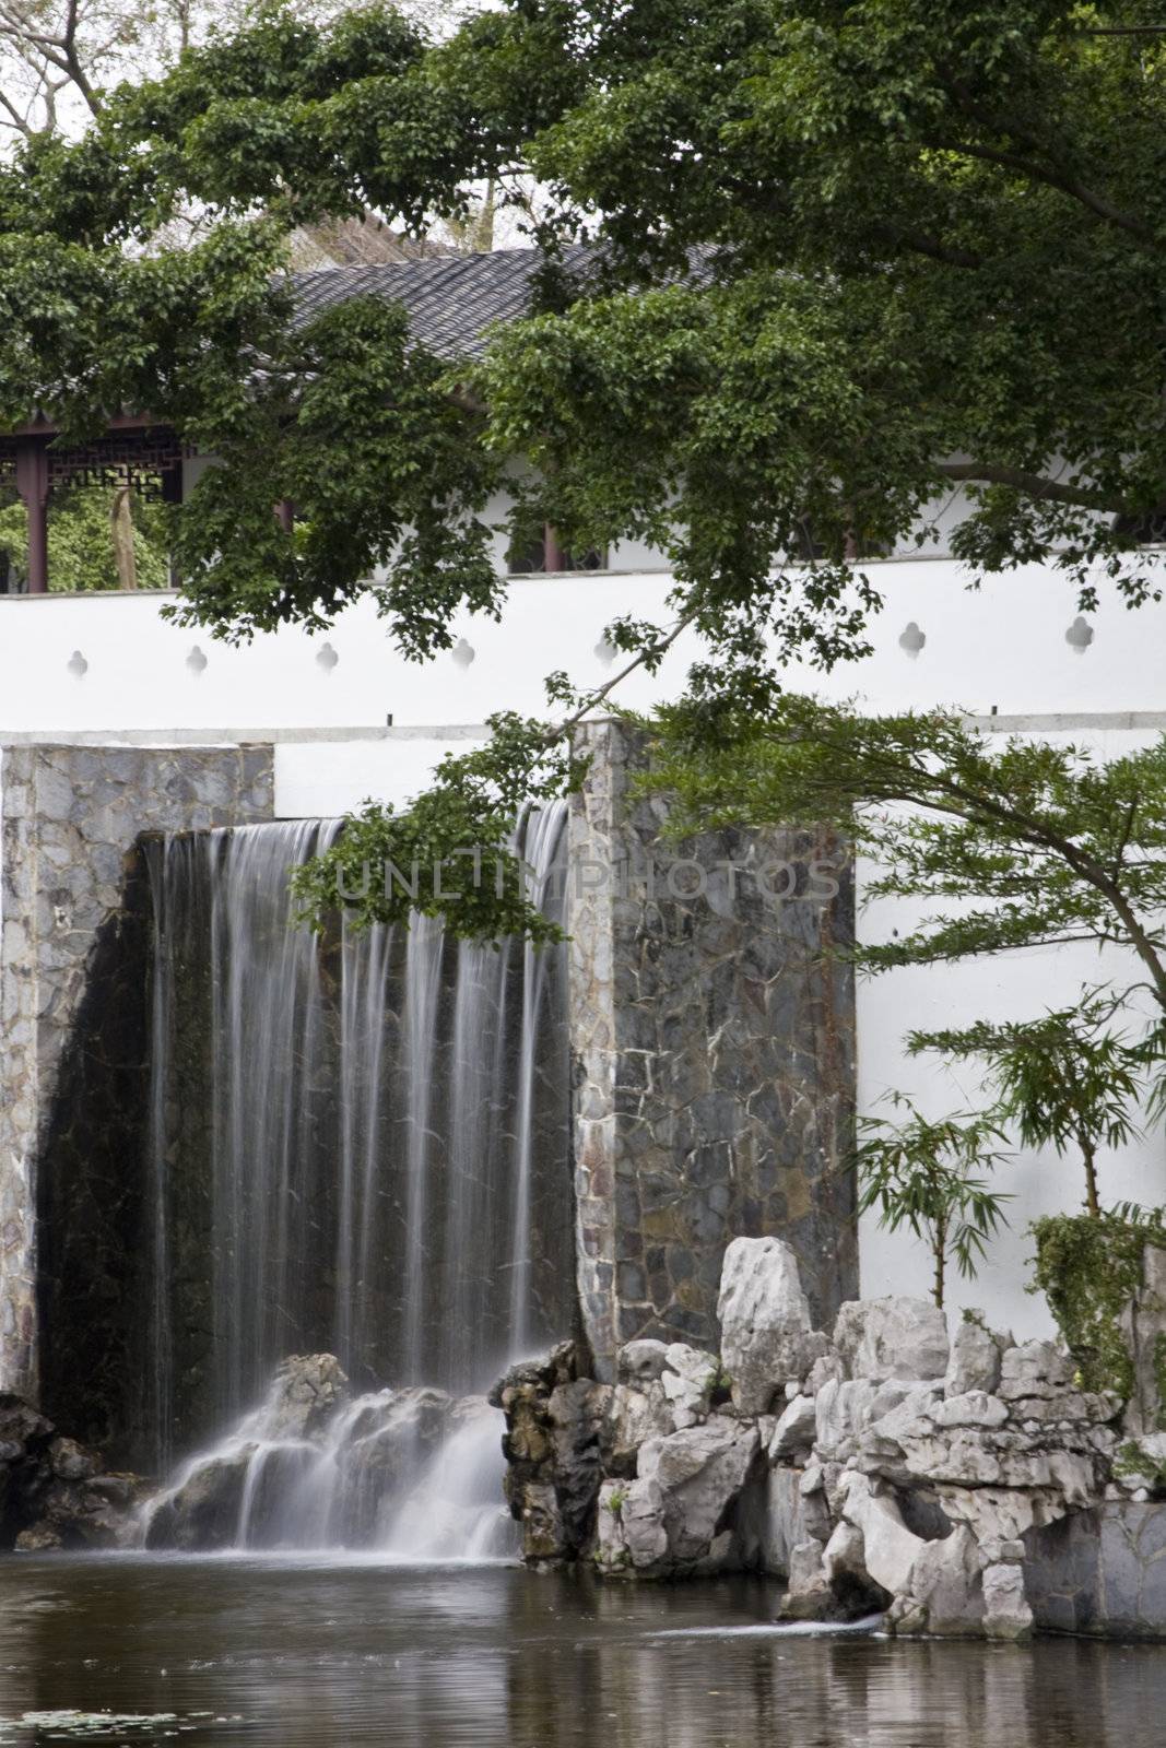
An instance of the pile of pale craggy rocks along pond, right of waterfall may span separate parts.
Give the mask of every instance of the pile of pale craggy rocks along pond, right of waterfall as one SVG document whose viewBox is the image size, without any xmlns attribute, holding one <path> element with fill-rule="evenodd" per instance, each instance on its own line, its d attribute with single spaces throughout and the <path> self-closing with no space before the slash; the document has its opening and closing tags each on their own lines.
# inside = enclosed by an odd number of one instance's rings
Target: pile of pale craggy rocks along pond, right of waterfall
<svg viewBox="0 0 1166 1748">
<path fill-rule="evenodd" d="M 1157 1308 L 1154 1276 L 1136 1308 L 1152 1334 Z M 633 1341 L 614 1384 L 570 1344 L 502 1379 L 528 1561 L 636 1578 L 752 1566 L 788 1578 L 794 1619 L 885 1610 L 899 1633 L 1014 1640 L 1033 1627 L 1026 1538 L 1166 1493 L 1166 1435 L 1135 1454 L 1126 1404 L 1082 1390 L 1056 1342 L 979 1313 L 949 1335 L 906 1297 L 844 1304 L 827 1335 L 774 1238 L 729 1245 L 720 1320 L 720 1355 Z"/>
</svg>

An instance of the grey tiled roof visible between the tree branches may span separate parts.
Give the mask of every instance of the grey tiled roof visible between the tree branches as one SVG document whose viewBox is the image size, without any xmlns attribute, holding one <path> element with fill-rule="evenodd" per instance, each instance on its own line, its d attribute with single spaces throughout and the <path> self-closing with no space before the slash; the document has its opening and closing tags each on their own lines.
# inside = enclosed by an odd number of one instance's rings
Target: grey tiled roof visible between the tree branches
<svg viewBox="0 0 1166 1748">
<path fill-rule="evenodd" d="M 568 260 L 582 262 L 586 255 L 584 248 L 568 250 Z M 474 357 L 482 351 L 489 327 L 528 313 L 538 260 L 533 248 L 500 248 L 489 255 L 295 273 L 297 318 L 304 322 L 332 304 L 372 294 L 402 302 L 413 334 L 434 351 Z"/>
</svg>

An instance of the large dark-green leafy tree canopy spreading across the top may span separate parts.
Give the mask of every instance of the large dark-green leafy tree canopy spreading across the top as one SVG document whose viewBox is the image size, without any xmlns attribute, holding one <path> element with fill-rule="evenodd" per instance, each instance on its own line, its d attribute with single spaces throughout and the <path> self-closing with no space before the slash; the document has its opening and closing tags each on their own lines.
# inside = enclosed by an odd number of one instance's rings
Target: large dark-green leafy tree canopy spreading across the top
<svg viewBox="0 0 1166 1748">
<path fill-rule="evenodd" d="M 322 626 L 374 587 L 418 659 L 498 608 L 481 516 L 524 458 L 519 521 L 668 556 L 668 622 L 607 636 L 652 666 L 703 635 L 710 743 L 774 706 L 790 656 L 865 650 L 879 596 L 851 554 L 927 542 L 956 489 L 972 565 L 1044 559 L 1086 605 L 1100 566 L 1142 603 L 1152 565 L 1122 554 L 1166 500 L 1166 44 L 1138 26 L 1121 0 L 509 0 L 432 44 L 376 7 L 264 12 L 0 178 L 0 414 L 84 434 L 164 406 L 229 463 L 184 509 L 185 615 Z M 420 232 L 530 177 L 540 308 L 484 358 L 435 360 L 371 304 L 292 325 L 273 273 L 304 225 Z M 157 238 L 192 205 L 178 262 Z M 822 559 L 794 568 L 808 523 Z M 587 699 L 559 675 L 549 706 L 563 727 Z M 482 827 L 559 757 L 556 720 L 503 729 Z M 386 851 L 402 830 L 383 818 Z"/>
</svg>

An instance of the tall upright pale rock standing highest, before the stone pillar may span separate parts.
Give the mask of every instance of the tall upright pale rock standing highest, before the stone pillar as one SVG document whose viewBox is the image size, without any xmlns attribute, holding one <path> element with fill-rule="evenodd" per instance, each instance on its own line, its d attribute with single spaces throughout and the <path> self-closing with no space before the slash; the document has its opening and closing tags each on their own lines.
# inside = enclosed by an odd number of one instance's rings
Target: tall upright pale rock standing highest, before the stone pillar
<svg viewBox="0 0 1166 1748">
<path fill-rule="evenodd" d="M 825 1355 L 797 1259 L 780 1238 L 734 1238 L 720 1273 L 720 1360 L 739 1414 L 766 1414 Z"/>
</svg>

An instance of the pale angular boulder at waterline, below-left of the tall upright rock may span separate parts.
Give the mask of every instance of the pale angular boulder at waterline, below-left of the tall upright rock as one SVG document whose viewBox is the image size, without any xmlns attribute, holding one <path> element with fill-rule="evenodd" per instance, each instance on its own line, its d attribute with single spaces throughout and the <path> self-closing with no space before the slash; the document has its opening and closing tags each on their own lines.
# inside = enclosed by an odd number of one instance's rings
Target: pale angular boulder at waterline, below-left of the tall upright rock
<svg viewBox="0 0 1166 1748">
<path fill-rule="evenodd" d="M 670 1563 L 684 1566 L 708 1554 L 713 1536 L 727 1528 L 759 1444 L 755 1426 L 715 1416 L 643 1446 L 638 1479 L 659 1488 Z"/>
</svg>

